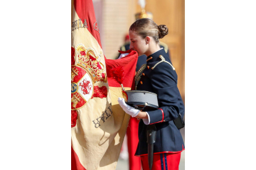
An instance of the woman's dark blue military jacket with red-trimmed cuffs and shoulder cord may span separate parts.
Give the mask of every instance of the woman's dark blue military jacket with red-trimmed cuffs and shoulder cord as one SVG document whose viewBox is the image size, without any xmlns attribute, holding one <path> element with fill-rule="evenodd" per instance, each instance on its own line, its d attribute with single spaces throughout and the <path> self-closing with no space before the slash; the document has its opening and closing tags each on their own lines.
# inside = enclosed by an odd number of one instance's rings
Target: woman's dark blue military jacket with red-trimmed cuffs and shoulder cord
<svg viewBox="0 0 256 170">
<path fill-rule="evenodd" d="M 162 60 L 160 56 L 163 56 L 166 62 L 171 63 L 164 49 L 149 55 L 147 57 L 147 67 L 143 70 L 137 90 L 153 92 L 158 97 L 159 109 L 147 111 L 150 116 L 150 124 L 156 125 L 154 153 L 176 153 L 181 152 L 185 147 L 181 132 L 177 129 L 173 120 L 179 116 L 179 113 L 183 118 L 185 109 L 177 88 L 176 71 L 169 63 L 158 63 Z M 140 119 L 139 144 L 135 155 L 148 153 L 146 129 L 147 125 Z"/>
</svg>

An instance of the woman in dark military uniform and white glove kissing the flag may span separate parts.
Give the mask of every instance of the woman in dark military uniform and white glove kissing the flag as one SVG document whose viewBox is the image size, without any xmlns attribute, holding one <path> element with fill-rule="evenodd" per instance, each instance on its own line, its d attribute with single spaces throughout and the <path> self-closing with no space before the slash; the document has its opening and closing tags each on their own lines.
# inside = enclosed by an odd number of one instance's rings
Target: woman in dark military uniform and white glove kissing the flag
<svg viewBox="0 0 256 170">
<path fill-rule="evenodd" d="M 139 144 L 135 155 L 141 157 L 143 170 L 148 166 L 147 126 L 155 124 L 156 140 L 153 144 L 153 170 L 177 170 L 181 152 L 185 149 L 181 132 L 173 120 L 184 116 L 184 103 L 177 88 L 177 74 L 159 39 L 168 34 L 166 25 L 156 25 L 153 20 L 142 18 L 129 28 L 130 49 L 139 55 L 147 55 L 147 67 L 143 70 L 137 90 L 157 94 L 158 110 L 140 111 L 127 105 L 124 99 L 118 102 L 132 117 L 140 119 Z"/>
</svg>

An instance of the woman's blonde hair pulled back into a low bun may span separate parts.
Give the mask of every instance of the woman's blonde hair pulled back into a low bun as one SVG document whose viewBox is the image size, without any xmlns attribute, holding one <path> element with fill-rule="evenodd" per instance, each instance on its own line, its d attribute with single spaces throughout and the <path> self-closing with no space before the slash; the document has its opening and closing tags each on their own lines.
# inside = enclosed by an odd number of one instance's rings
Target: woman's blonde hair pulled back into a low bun
<svg viewBox="0 0 256 170">
<path fill-rule="evenodd" d="M 142 36 L 142 38 L 146 38 L 147 36 L 153 37 L 155 42 L 159 43 L 159 39 L 163 38 L 168 34 L 168 28 L 166 25 L 156 25 L 153 20 L 149 18 L 142 18 L 130 25 L 130 31 L 134 31 L 135 33 Z"/>
</svg>

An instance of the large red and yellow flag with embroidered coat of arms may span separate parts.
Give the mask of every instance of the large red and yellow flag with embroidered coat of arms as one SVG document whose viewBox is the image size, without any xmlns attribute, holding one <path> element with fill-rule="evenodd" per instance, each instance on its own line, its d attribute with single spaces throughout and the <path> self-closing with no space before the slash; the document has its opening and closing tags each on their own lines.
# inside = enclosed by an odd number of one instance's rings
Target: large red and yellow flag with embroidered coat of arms
<svg viewBox="0 0 256 170">
<path fill-rule="evenodd" d="M 72 0 L 71 169 L 116 169 L 129 115 L 111 70 L 122 68 L 123 85 L 134 83 L 137 52 L 119 60 L 105 58 L 92 0 Z"/>
</svg>

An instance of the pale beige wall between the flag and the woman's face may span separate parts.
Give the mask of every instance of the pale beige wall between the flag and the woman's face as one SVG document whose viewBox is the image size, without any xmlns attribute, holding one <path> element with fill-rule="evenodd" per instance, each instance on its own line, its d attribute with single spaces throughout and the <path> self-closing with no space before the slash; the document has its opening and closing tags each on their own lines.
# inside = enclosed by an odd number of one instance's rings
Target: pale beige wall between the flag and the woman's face
<svg viewBox="0 0 256 170">
<path fill-rule="evenodd" d="M 124 36 L 135 21 L 135 5 L 133 0 L 103 1 L 104 34 L 101 41 L 104 41 L 103 52 L 106 58 L 114 59 L 124 44 Z"/>
</svg>

